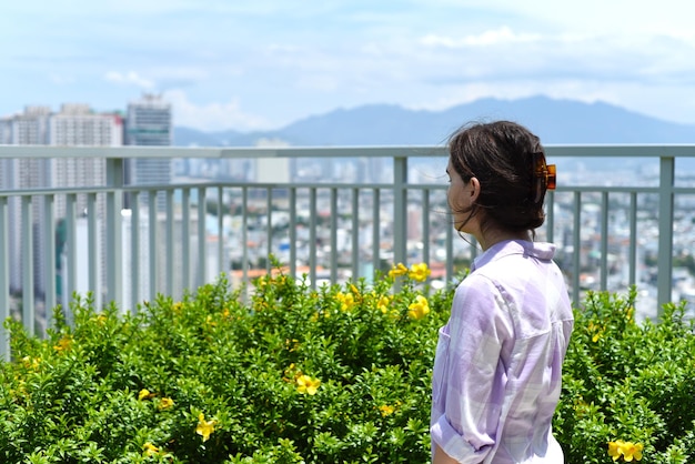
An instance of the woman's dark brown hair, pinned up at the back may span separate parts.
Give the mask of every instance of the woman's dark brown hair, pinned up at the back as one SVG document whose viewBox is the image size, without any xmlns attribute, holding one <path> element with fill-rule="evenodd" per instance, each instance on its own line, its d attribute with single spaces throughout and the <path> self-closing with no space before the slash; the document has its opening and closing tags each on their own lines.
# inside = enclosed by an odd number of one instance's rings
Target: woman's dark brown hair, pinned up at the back
<svg viewBox="0 0 695 464">
<path fill-rule="evenodd" d="M 482 212 L 482 229 L 533 233 L 543 225 L 545 185 L 538 194 L 536 162 L 545 153 L 536 135 L 510 121 L 467 124 L 449 139 L 449 153 L 465 182 L 476 178 L 481 184 L 475 203 L 461 211 L 469 212 L 466 222 Z"/>
</svg>

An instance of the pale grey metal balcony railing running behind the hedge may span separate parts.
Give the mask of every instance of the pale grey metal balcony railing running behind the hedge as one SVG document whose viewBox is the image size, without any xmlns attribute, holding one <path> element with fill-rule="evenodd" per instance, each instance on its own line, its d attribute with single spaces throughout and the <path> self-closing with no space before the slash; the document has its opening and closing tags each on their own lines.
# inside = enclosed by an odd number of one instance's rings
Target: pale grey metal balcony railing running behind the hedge
<svg viewBox="0 0 695 464">
<path fill-rule="evenodd" d="M 646 316 L 695 299 L 689 274 L 674 271 L 695 242 L 695 145 L 546 153 L 558 188 L 546 196 L 537 239 L 557 244 L 575 305 L 587 289 L 633 284 L 644 290 Z M 172 160 L 181 175 L 125 183 L 129 163 L 141 159 Z M 445 165 L 442 147 L 0 147 L 0 319 L 21 317 L 42 334 L 51 309 L 69 307 L 75 292 L 137 311 L 220 273 L 246 297 L 253 278 L 271 270 L 271 254 L 313 286 L 421 261 L 433 270 L 431 284 L 445 285 L 480 252 L 451 225 Z M 0 331 L 0 354 L 8 353 Z"/>
</svg>

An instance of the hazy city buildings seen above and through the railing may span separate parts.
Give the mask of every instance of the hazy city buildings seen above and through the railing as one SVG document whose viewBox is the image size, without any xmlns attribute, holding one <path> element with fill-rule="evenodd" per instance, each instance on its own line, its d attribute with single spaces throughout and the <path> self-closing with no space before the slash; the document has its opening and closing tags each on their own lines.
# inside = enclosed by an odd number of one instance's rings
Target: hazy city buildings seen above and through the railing
<svg viewBox="0 0 695 464">
<path fill-rule="evenodd" d="M 124 112 L 95 113 L 90 110 L 87 104 L 66 103 L 58 112 L 52 112 L 48 107 L 28 107 L 23 113 L 0 119 L 0 142 L 2 144 L 34 144 L 34 145 L 52 145 L 52 147 L 120 147 L 120 145 L 149 145 L 163 147 L 172 144 L 172 108 L 171 104 L 162 100 L 161 97 L 154 94 L 144 94 L 141 99 L 128 103 Z M 282 144 L 282 141 L 264 141 L 268 144 Z M 130 161 L 130 160 L 129 160 Z M 409 182 L 413 184 L 444 184 L 442 181 L 442 172 L 444 171 L 444 159 L 414 159 L 409 165 Z M 593 168 L 586 167 L 581 160 L 575 160 L 572 169 L 560 172 L 561 184 L 582 185 L 587 179 L 594 181 L 593 185 L 605 184 L 624 184 L 624 185 L 653 185 L 657 178 L 657 167 L 649 164 L 626 165 L 620 172 L 620 175 L 607 175 L 603 180 L 595 182 L 600 176 L 592 175 L 595 172 Z M 692 173 L 679 171 L 679 182 L 687 184 L 691 182 Z M 393 179 L 393 167 L 386 160 L 382 159 L 295 159 L 295 160 L 201 160 L 190 159 L 175 161 L 162 159 L 135 159 L 124 167 L 124 184 L 125 185 L 165 185 L 169 183 L 182 182 L 205 182 L 211 180 L 230 180 L 235 183 L 254 183 L 254 182 L 326 182 L 326 183 L 379 183 Z M 3 159 L 0 160 L 0 190 L 32 190 L 32 189 L 60 189 L 75 186 L 93 186 L 105 184 L 105 169 L 103 159 Z M 335 202 L 339 211 L 349 211 L 351 209 L 352 193 L 350 189 L 340 189 L 338 191 Z M 85 195 L 78 195 L 77 211 L 87 211 L 89 204 Z M 147 193 L 142 194 L 140 200 L 142 204 L 147 202 Z M 177 202 L 175 210 L 180 211 L 180 199 Z M 214 260 L 209 260 L 210 269 L 207 270 L 208 275 L 214 275 L 219 272 L 229 272 L 232 283 L 238 280 L 235 278 L 242 268 L 243 260 L 248 260 L 252 269 L 264 270 L 268 260 L 268 251 L 280 259 L 281 262 L 288 262 L 290 255 L 288 244 L 289 211 L 290 204 L 286 194 L 278 194 L 273 196 L 272 203 L 269 203 L 265 193 L 262 191 L 258 194 L 251 194 L 248 199 L 246 208 L 251 212 L 244 221 L 242 220 L 241 209 L 241 191 L 239 189 L 229 189 L 224 192 L 222 203 L 226 205 L 225 211 L 210 211 L 209 203 L 215 203 L 216 199 L 193 199 L 198 206 L 191 221 L 191 230 L 198 230 L 198 221 L 204 221 L 205 236 L 197 240 L 204 240 L 205 250 L 212 255 L 216 246 L 218 240 L 222 240 L 225 248 L 226 262 L 222 264 L 223 269 L 215 268 Z M 674 269 L 674 294 L 673 300 L 686 300 L 695 305 L 695 283 L 693 272 L 692 250 L 695 244 L 695 214 L 693 211 L 694 199 L 688 195 L 679 195 L 676 199 L 677 223 L 674 224 L 676 241 L 674 242 L 674 259 L 677 268 Z M 201 218 L 201 202 L 205 203 L 205 216 Z M 597 275 L 597 261 L 601 259 L 600 236 L 602 230 L 602 219 L 600 215 L 601 202 L 598 194 L 588 193 L 582 202 L 582 228 L 581 243 L 582 256 L 581 263 L 582 274 L 580 276 L 581 288 L 583 291 L 597 290 L 600 276 Z M 656 255 L 657 255 L 657 210 L 655 195 L 644 194 L 639 196 L 638 221 L 637 221 L 637 275 L 636 282 L 639 290 L 639 301 L 637 315 L 645 317 L 655 316 L 655 279 Z M 329 195 L 319 195 L 313 208 L 316 209 L 320 218 L 328 219 L 334 212 L 331 210 L 331 199 Z M 315 249 L 316 264 L 321 269 L 330 266 L 329 261 L 331 254 L 338 255 L 338 263 L 341 268 L 339 279 L 341 281 L 350 279 L 351 270 L 348 268 L 352 251 L 352 239 L 354 233 L 359 234 L 359 251 L 361 262 L 365 263 L 360 271 L 361 275 L 372 275 L 374 262 L 373 253 L 377 249 L 379 261 L 382 266 L 391 264 L 393 250 L 389 246 L 393 239 L 393 231 L 389 229 L 389 221 L 393 214 L 393 199 L 390 195 L 383 195 L 379 199 L 379 204 L 374 204 L 374 198 L 369 192 L 361 192 L 357 201 L 360 209 L 365 213 L 361 214 L 359 221 L 359 230 L 353 231 L 354 223 L 351 214 L 341 214 L 336 218 L 336 250 L 331 249 L 330 230 L 325 224 L 319 223 L 319 230 L 312 238 L 305 221 L 310 216 L 312 203 L 309 198 L 309 191 L 300 191 L 295 198 L 294 208 L 298 212 L 299 225 L 296 228 L 296 265 L 299 268 L 308 266 L 310 261 L 308 256 L 311 250 Z M 627 262 L 628 262 L 628 240 L 629 229 L 626 226 L 628 219 L 629 195 L 613 195 L 611 204 L 611 214 L 608 218 L 608 263 L 611 273 L 607 278 L 607 286 L 610 291 L 624 292 L 628 286 Z M 58 223 L 66 216 L 66 198 L 57 195 L 53 216 Z M 147 214 L 158 214 L 167 208 L 164 195 L 158 195 L 155 211 Z M 271 204 L 272 212 L 268 212 Z M 123 206 L 130 211 L 129 198 L 125 196 Z M 430 261 L 433 270 L 433 286 L 443 286 L 444 281 L 441 280 L 441 269 L 446 258 L 446 249 L 444 245 L 446 230 L 451 228 L 450 218 L 446 213 L 445 190 L 435 190 L 429 199 L 429 211 L 422 208 L 421 196 L 414 192 L 409 198 L 407 205 L 407 250 L 409 258 L 413 260 L 423 259 L 422 250 L 425 244 L 422 243 L 422 224 L 423 220 L 430 228 L 430 243 L 426 248 L 430 250 Z M 46 205 L 41 202 L 32 203 L 31 218 L 36 222 L 34 228 L 42 230 L 41 221 L 47 215 L 43 209 Z M 553 241 L 557 244 L 558 253 L 556 261 L 562 269 L 571 269 L 571 259 L 573 253 L 572 230 L 574 228 L 574 203 L 571 195 L 557 193 L 554 202 L 554 230 Z M 383 224 L 380 230 L 383 236 L 375 246 L 373 242 L 373 228 L 371 222 L 371 211 L 379 209 L 379 215 Z M 24 245 L 22 243 L 23 235 L 21 229 L 21 204 L 16 201 L 9 203 L 9 214 L 13 220 L 10 221 L 9 241 L 10 241 L 10 288 L 14 294 L 21 294 L 22 289 L 22 253 Z M 95 211 L 101 215 L 105 210 L 104 199 L 97 201 Z M 140 209 L 140 214 L 145 213 L 145 209 Z M 219 219 L 222 224 L 222 231 L 215 229 L 218 221 L 216 214 L 223 213 L 224 216 Z M 426 218 L 423 218 L 426 214 Z M 269 224 L 268 221 L 271 221 Z M 177 215 L 177 222 L 180 223 L 182 216 Z M 328 223 L 328 222 L 326 222 Z M 148 221 L 139 222 L 142 229 L 142 241 L 147 240 Z M 386 224 L 386 226 L 384 226 Z M 132 226 L 132 218 L 124 214 L 123 228 L 124 236 L 131 236 L 130 228 Z M 79 236 L 85 236 L 85 223 L 78 221 Z M 271 233 L 269 234 L 269 228 Z M 545 228 L 545 226 L 544 226 Z M 547 236 L 547 231 L 541 229 L 538 239 Z M 105 253 L 105 232 L 103 225 L 100 226 L 99 254 L 104 256 Z M 162 228 L 159 228 L 161 231 Z M 222 233 L 223 236 L 218 236 Z M 314 240 L 312 243 L 311 240 Z M 82 241 L 80 241 L 82 242 Z M 270 242 L 270 244 L 268 243 Z M 159 241 L 161 246 L 163 241 Z M 60 268 L 60 253 L 62 250 L 60 239 L 57 238 L 57 259 L 56 265 Z M 34 259 L 34 293 L 43 294 L 47 282 L 43 269 L 49 265 L 50 256 L 46 251 L 48 244 L 44 240 L 34 236 L 33 241 L 33 259 Z M 78 253 L 84 253 L 84 250 Z M 150 251 L 143 250 L 139 258 L 141 263 L 150 260 Z M 164 250 L 158 248 L 153 252 L 157 255 L 163 255 Z M 454 240 L 453 245 L 454 262 L 460 266 L 466 266 L 474 258 L 475 248 L 463 240 Z M 127 253 L 128 254 L 128 253 Z M 87 262 L 87 255 L 81 258 Z M 159 260 L 159 258 L 157 258 Z M 125 268 L 133 263 L 127 263 Z M 161 265 L 165 265 L 164 262 Z M 674 264 L 676 265 L 676 264 Z M 189 272 L 195 272 L 189 271 Z M 102 269 L 99 279 L 103 282 L 105 271 Z M 85 275 L 78 275 L 79 280 L 87 280 Z M 158 279 L 154 276 L 154 279 Z M 183 281 L 178 275 L 177 281 Z M 328 282 L 328 275 L 319 272 L 318 279 L 321 282 Z M 151 280 L 151 279 L 150 279 Z M 162 288 L 161 282 L 150 282 L 143 276 L 140 281 L 141 289 L 138 294 L 147 295 L 152 286 Z M 80 289 L 78 282 L 74 285 Z M 132 292 L 133 289 L 127 289 Z M 63 299 L 67 295 L 62 295 Z M 67 301 L 63 300 L 63 303 Z"/>
</svg>

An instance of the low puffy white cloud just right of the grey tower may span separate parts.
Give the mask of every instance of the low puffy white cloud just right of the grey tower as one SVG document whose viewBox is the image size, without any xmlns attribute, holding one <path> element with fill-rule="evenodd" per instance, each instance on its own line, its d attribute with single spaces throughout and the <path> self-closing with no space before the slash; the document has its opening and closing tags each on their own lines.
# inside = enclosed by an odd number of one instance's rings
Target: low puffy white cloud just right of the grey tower
<svg viewBox="0 0 695 464">
<path fill-rule="evenodd" d="M 235 100 L 226 103 L 195 104 L 182 90 L 164 92 L 164 100 L 173 105 L 175 125 L 184 125 L 204 131 L 232 129 L 250 131 L 266 129 L 269 122 L 260 117 L 243 112 Z"/>
</svg>

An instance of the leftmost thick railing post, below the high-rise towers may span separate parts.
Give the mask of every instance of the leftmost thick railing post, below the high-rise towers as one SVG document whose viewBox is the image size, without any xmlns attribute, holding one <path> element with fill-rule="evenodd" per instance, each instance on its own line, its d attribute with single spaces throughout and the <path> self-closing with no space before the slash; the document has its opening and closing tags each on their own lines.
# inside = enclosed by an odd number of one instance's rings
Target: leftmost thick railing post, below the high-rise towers
<svg viewBox="0 0 695 464">
<path fill-rule="evenodd" d="M 107 304 L 114 302 L 123 307 L 123 241 L 122 218 L 123 205 L 123 159 L 107 159 Z"/>
</svg>

